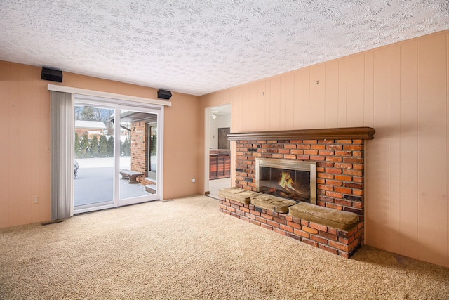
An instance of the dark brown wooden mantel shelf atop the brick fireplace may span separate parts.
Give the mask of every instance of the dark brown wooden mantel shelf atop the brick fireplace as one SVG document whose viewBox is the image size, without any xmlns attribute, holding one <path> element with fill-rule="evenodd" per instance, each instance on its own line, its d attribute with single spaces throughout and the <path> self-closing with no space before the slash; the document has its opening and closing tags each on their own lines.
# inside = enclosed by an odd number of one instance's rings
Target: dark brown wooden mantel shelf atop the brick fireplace
<svg viewBox="0 0 449 300">
<path fill-rule="evenodd" d="M 330 129 L 304 129 L 304 130 L 284 130 L 284 131 L 259 131 L 228 133 L 227 137 L 231 141 L 237 140 L 372 140 L 375 130 L 370 127 L 347 127 Z"/>
</svg>

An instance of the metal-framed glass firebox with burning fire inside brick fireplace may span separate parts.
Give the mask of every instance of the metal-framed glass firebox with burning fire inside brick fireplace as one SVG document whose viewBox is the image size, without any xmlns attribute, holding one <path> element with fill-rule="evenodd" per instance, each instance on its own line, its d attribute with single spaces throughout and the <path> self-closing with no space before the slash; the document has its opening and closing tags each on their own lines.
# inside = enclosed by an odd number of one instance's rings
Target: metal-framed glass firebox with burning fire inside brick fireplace
<svg viewBox="0 0 449 300">
<path fill-rule="evenodd" d="M 316 162 L 256 159 L 257 192 L 316 204 Z"/>
</svg>

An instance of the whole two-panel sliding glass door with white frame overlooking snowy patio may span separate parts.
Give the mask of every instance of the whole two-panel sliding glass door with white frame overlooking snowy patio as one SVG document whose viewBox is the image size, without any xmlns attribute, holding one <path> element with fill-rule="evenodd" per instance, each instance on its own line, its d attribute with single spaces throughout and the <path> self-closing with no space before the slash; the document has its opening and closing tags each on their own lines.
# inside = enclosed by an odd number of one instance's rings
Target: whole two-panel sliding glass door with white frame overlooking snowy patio
<svg viewBox="0 0 449 300">
<path fill-rule="evenodd" d="M 75 97 L 75 214 L 161 199 L 162 112 Z"/>
</svg>

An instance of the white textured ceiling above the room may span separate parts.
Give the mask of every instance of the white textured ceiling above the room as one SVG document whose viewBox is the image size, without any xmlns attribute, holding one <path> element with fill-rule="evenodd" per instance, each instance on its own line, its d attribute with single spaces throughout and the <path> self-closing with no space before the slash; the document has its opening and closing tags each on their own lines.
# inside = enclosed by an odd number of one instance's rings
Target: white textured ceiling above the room
<svg viewBox="0 0 449 300">
<path fill-rule="evenodd" d="M 449 29 L 448 3 L 0 0 L 0 60 L 203 95 Z"/>
</svg>

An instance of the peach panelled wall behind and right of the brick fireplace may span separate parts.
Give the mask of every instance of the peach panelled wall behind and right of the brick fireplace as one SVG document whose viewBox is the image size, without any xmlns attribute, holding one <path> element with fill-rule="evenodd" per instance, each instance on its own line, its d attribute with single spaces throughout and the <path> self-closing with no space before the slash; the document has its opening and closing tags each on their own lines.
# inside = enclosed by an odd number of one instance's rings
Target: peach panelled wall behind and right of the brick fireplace
<svg viewBox="0 0 449 300">
<path fill-rule="evenodd" d="M 233 132 L 373 127 L 366 244 L 449 267 L 448 94 L 444 31 L 201 96 L 199 112 L 232 103 Z"/>
</svg>

